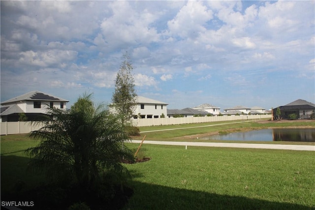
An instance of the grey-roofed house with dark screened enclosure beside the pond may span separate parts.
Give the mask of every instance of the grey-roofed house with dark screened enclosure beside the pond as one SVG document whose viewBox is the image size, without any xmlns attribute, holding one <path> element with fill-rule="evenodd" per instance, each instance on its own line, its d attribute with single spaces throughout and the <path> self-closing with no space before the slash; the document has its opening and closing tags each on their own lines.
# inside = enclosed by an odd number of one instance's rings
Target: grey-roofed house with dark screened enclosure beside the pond
<svg viewBox="0 0 315 210">
<path fill-rule="evenodd" d="M 280 106 L 279 108 L 282 119 L 289 119 L 290 114 L 296 114 L 299 119 L 314 119 L 315 116 L 315 104 L 302 99 Z M 273 109 L 274 118 L 277 117 L 277 109 Z"/>
</svg>

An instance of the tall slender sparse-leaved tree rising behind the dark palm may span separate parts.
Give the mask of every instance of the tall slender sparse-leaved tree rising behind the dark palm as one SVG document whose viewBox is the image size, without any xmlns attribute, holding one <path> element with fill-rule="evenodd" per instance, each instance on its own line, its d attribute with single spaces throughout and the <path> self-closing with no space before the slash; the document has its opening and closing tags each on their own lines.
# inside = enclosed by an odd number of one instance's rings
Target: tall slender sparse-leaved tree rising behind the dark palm
<svg viewBox="0 0 315 210">
<path fill-rule="evenodd" d="M 115 92 L 112 102 L 117 113 L 121 115 L 122 124 L 132 118 L 136 105 L 136 91 L 134 79 L 131 74 L 133 69 L 128 53 L 124 54 L 124 60 L 120 65 L 115 81 Z"/>
</svg>

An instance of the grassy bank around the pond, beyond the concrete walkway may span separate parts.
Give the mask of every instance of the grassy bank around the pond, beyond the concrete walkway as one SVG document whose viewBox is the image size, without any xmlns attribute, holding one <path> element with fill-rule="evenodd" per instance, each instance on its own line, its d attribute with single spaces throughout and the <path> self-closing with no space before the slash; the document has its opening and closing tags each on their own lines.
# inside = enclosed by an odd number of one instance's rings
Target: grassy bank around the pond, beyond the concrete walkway
<svg viewBox="0 0 315 210">
<path fill-rule="evenodd" d="M 264 123 L 261 123 L 264 122 Z M 218 125 L 219 124 L 219 125 Z M 194 135 L 207 134 L 207 133 L 227 133 L 227 132 L 240 132 L 255 129 L 267 129 L 271 127 L 314 127 L 314 120 L 294 121 L 221 121 L 221 122 L 206 122 L 206 123 L 192 123 L 192 124 L 179 124 L 179 125 L 160 125 L 160 126 L 146 126 L 140 127 L 141 135 L 135 136 L 133 139 L 142 140 L 146 135 L 146 140 L 155 141 L 196 141 Z M 168 130 L 174 129 L 175 130 Z M 150 132 L 148 132 L 150 131 Z M 191 137 L 191 138 L 189 138 Z M 197 140 L 198 142 L 222 142 L 214 140 Z M 224 141 L 228 143 L 228 141 Z M 238 143 L 237 141 L 232 141 Z M 244 143 L 244 142 L 239 142 Z M 303 144 L 315 145 L 314 142 L 247 142 L 247 143 L 263 143 L 263 144 Z"/>
</svg>

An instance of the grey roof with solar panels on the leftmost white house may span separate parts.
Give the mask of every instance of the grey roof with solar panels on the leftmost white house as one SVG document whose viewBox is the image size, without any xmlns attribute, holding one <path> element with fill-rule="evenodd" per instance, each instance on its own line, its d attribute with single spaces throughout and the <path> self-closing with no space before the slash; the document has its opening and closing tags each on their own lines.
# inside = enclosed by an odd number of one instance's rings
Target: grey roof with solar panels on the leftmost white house
<svg viewBox="0 0 315 210">
<path fill-rule="evenodd" d="M 12 102 L 16 102 L 16 101 L 28 101 L 28 100 L 69 102 L 68 100 L 65 100 L 63 98 L 59 98 L 59 97 L 56 97 L 54 95 L 50 95 L 50 94 L 35 90 L 35 91 L 31 91 L 31 92 L 25 93 L 23 95 L 19 95 L 17 97 L 11 98 L 9 100 L 3 101 L 3 102 L 1 102 L 1 104 L 12 103 Z"/>
</svg>

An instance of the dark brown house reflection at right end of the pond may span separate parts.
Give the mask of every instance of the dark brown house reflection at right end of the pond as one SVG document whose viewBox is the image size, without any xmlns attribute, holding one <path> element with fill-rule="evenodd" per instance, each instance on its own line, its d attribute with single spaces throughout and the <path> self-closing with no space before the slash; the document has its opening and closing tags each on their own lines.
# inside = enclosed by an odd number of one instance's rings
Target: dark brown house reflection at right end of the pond
<svg viewBox="0 0 315 210">
<path fill-rule="evenodd" d="M 274 141 L 315 142 L 315 129 L 277 128 L 272 129 L 272 137 Z"/>
</svg>

